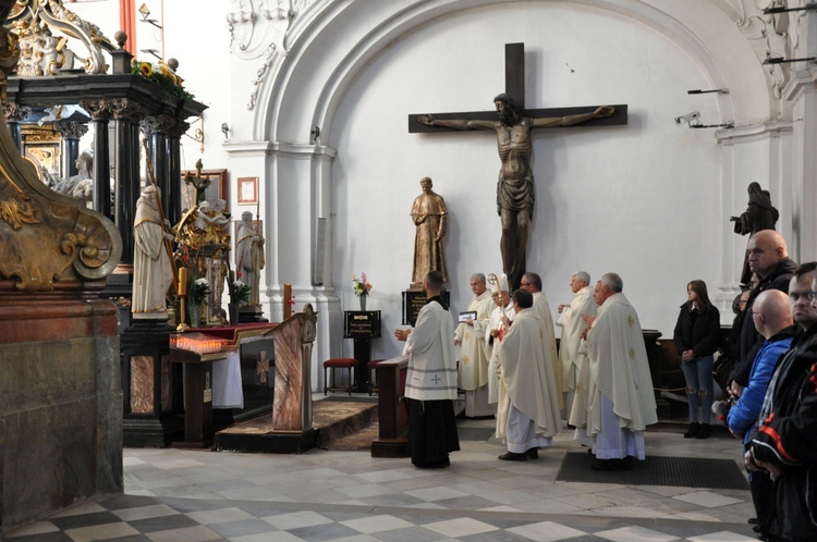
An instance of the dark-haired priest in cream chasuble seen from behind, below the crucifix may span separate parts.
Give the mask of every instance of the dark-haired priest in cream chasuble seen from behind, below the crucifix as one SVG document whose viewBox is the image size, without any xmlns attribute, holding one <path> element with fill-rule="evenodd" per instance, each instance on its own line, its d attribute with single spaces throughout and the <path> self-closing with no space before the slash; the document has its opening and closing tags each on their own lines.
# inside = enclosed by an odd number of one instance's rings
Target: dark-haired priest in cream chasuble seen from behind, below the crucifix
<svg viewBox="0 0 817 542">
<path fill-rule="evenodd" d="M 556 357 L 546 352 L 544 325 L 533 305 L 529 292 L 513 293 L 516 316 L 496 346 L 500 373 L 497 438 L 508 444 L 508 453 L 499 456 L 502 460 L 537 458 L 538 448 L 552 445 L 562 426 Z"/>
</svg>

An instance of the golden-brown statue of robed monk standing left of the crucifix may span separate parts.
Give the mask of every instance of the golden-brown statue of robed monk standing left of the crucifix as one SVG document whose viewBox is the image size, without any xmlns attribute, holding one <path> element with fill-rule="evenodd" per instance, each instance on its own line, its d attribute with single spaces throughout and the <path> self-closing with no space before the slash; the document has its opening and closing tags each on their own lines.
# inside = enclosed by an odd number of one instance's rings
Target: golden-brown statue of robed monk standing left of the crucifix
<svg viewBox="0 0 817 542">
<path fill-rule="evenodd" d="M 448 225 L 448 209 L 442 196 L 435 193 L 430 177 L 419 182 L 423 194 L 412 205 L 412 220 L 417 226 L 414 238 L 414 271 L 412 271 L 412 290 L 423 288 L 423 279 L 429 271 L 442 273 L 442 282 L 448 282 L 446 255 L 442 251 L 442 237 Z"/>
</svg>

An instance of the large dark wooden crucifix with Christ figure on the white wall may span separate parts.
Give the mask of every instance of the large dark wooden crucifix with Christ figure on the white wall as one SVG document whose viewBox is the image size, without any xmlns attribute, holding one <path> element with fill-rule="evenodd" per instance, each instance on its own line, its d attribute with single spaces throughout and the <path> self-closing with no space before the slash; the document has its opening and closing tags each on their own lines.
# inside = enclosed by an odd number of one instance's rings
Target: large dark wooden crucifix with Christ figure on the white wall
<svg viewBox="0 0 817 542">
<path fill-rule="evenodd" d="M 493 130 L 497 132 L 502 167 L 497 184 L 497 212 L 502 223 L 502 267 L 513 290 L 525 273 L 525 251 L 534 213 L 532 131 L 574 124 L 609 126 L 626 124 L 625 104 L 525 109 L 525 45 L 505 44 L 505 93 L 493 99 L 496 111 L 408 115 L 410 133 L 452 130 Z"/>
</svg>

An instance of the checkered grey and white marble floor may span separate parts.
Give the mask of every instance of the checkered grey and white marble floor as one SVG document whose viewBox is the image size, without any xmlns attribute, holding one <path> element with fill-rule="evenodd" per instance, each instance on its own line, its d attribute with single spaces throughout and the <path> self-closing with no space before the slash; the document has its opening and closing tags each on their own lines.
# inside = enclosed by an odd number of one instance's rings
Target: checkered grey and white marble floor
<svg viewBox="0 0 817 542">
<path fill-rule="evenodd" d="M 461 420 L 478 434 L 492 420 Z M 477 431 L 474 431 L 477 429 Z M 485 431 L 483 431 L 485 433 Z M 461 442 L 452 466 L 314 449 L 303 455 L 125 449 L 125 492 L 4 534 L 37 541 L 756 540 L 747 491 L 557 482 L 562 432 L 538 460 L 500 461 L 493 439 Z M 741 459 L 725 433 L 647 433 L 647 453 Z M 637 467 L 636 467 L 637 468 Z"/>
</svg>

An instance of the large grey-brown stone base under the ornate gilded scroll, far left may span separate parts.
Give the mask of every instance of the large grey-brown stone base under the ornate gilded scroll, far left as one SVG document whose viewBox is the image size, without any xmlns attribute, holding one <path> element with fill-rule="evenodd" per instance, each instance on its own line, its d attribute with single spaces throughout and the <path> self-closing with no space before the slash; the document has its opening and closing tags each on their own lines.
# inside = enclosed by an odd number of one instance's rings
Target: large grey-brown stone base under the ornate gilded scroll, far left
<svg viewBox="0 0 817 542">
<path fill-rule="evenodd" d="M 0 532 L 122 492 L 117 309 L 94 287 L 0 281 Z"/>
</svg>

